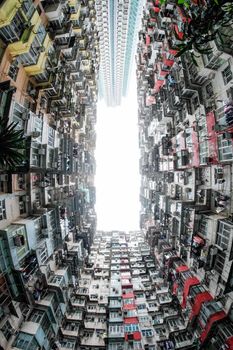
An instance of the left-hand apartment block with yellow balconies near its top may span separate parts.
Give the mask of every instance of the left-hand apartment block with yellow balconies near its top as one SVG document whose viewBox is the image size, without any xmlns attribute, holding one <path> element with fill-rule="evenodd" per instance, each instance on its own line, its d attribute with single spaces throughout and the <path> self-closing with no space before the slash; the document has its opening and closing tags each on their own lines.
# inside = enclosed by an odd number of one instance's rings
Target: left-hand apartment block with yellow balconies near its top
<svg viewBox="0 0 233 350">
<path fill-rule="evenodd" d="M 76 349 L 70 302 L 96 228 L 94 1 L 1 1 L 0 120 L 24 161 L 0 173 L 1 349 Z"/>
</svg>

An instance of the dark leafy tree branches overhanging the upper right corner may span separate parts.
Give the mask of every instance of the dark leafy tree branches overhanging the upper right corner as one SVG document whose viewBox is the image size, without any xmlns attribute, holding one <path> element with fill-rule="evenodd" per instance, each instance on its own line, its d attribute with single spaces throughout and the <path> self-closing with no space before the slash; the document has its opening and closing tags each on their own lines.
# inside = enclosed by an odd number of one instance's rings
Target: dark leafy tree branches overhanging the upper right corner
<svg viewBox="0 0 233 350">
<path fill-rule="evenodd" d="M 160 0 L 166 5 L 167 0 Z M 208 54 L 208 45 L 218 39 L 222 44 L 230 42 L 226 28 L 233 24 L 233 2 L 231 0 L 176 0 L 176 6 L 187 20 L 182 23 L 182 38 L 174 35 L 180 44 L 177 45 L 177 57 L 187 51 Z"/>
</svg>

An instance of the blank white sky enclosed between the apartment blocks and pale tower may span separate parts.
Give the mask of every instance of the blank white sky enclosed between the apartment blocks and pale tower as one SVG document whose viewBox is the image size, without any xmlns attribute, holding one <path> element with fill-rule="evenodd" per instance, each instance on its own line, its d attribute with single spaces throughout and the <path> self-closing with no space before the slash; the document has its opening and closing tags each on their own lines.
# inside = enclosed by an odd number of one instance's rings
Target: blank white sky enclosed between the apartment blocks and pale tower
<svg viewBox="0 0 233 350">
<path fill-rule="evenodd" d="M 136 76 L 132 72 L 132 76 Z M 139 146 L 136 80 L 119 107 L 97 108 L 96 211 L 98 230 L 139 229 Z"/>
</svg>

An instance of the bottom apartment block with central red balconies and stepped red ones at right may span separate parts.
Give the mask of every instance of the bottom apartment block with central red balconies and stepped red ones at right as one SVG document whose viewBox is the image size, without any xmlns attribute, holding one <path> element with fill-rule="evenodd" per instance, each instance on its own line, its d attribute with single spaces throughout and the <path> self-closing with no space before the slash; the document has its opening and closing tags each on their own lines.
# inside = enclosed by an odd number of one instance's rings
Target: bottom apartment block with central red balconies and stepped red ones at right
<svg viewBox="0 0 233 350">
<path fill-rule="evenodd" d="M 229 305 L 162 253 L 143 231 L 96 232 L 72 299 L 79 312 L 86 306 L 80 349 L 230 349 Z"/>
</svg>

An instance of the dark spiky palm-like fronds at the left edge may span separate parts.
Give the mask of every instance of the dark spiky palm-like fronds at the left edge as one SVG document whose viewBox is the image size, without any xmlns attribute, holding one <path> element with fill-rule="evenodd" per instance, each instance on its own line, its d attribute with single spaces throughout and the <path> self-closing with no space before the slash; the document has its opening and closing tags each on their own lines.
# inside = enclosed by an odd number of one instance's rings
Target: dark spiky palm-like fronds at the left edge
<svg viewBox="0 0 233 350">
<path fill-rule="evenodd" d="M 0 168 L 12 168 L 24 161 L 24 130 L 17 130 L 17 124 L 0 122 Z"/>
</svg>

